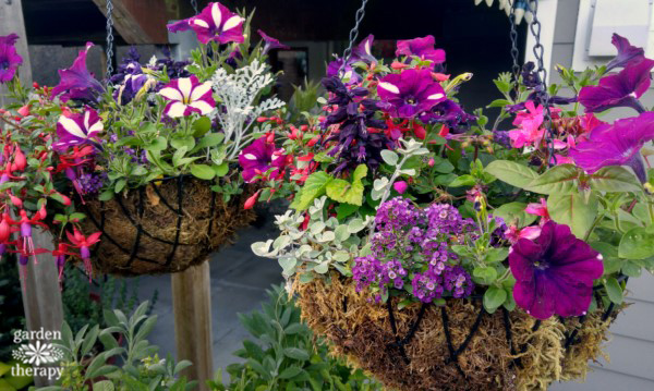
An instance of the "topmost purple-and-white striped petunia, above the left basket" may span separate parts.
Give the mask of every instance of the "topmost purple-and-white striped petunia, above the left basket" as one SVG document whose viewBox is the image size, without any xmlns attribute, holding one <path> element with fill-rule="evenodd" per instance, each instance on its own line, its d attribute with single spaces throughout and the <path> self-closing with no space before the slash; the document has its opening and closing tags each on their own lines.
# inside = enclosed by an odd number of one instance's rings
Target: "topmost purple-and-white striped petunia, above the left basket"
<svg viewBox="0 0 654 391">
<path fill-rule="evenodd" d="M 243 36 L 243 22 L 245 20 L 231 12 L 219 2 L 210 2 L 195 16 L 184 19 L 168 25 L 172 33 L 193 29 L 197 39 L 203 44 L 215 40 L 220 44 L 238 42 L 245 40 Z"/>
</svg>

